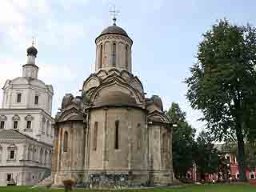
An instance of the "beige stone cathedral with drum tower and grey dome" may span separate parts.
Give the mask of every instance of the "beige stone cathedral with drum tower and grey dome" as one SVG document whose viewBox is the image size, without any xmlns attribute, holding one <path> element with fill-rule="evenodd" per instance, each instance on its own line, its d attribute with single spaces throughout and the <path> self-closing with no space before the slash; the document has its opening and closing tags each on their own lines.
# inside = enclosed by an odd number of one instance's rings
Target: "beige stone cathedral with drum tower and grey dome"
<svg viewBox="0 0 256 192">
<path fill-rule="evenodd" d="M 66 94 L 54 121 L 54 186 L 173 182 L 172 122 L 132 73 L 133 40 L 114 24 L 95 39 L 95 70 L 82 94 Z"/>
</svg>

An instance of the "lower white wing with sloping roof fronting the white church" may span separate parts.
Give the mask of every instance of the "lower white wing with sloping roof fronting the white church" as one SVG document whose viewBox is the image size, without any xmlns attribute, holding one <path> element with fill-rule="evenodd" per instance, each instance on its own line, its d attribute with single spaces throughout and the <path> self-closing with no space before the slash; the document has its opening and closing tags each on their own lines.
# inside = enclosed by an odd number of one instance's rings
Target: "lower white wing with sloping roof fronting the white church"
<svg viewBox="0 0 256 192">
<path fill-rule="evenodd" d="M 15 130 L 5 131 L 14 138 L 3 138 L 0 133 L 0 186 L 32 186 L 49 175 L 52 146 Z"/>
</svg>

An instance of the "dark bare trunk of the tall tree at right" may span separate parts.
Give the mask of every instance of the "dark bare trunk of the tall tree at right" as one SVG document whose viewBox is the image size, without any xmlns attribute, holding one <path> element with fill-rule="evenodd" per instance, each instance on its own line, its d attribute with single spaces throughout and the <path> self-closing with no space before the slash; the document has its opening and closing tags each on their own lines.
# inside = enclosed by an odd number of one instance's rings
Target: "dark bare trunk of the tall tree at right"
<svg viewBox="0 0 256 192">
<path fill-rule="evenodd" d="M 237 141 L 238 141 L 238 170 L 239 170 L 239 180 L 246 182 L 246 158 L 245 158 L 245 143 L 242 134 L 242 125 L 238 123 L 237 129 Z"/>
</svg>

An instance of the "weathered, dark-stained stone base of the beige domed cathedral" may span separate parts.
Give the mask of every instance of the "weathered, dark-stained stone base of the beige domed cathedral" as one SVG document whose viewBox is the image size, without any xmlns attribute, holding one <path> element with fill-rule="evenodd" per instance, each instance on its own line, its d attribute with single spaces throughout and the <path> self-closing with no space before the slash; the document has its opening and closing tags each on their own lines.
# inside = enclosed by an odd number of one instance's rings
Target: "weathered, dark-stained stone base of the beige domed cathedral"
<svg viewBox="0 0 256 192">
<path fill-rule="evenodd" d="M 73 179 L 77 186 L 88 188 L 167 186 L 172 183 L 172 174 L 165 170 L 69 170 L 58 171 L 52 178 L 53 186 L 63 186 L 63 180 Z"/>
</svg>

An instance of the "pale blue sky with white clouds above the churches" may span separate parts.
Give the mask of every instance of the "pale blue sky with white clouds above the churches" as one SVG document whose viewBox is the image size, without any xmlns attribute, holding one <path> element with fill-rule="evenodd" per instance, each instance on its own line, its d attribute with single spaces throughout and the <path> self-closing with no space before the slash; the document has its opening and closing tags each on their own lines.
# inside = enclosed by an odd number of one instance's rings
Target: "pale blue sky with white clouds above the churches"
<svg viewBox="0 0 256 192">
<path fill-rule="evenodd" d="M 183 82 L 196 62 L 198 43 L 217 19 L 256 26 L 254 0 L 1 0 L 0 86 L 22 76 L 26 48 L 36 38 L 38 78 L 54 86 L 55 115 L 62 97 L 81 94 L 94 72 L 94 40 L 111 25 L 113 5 L 120 11 L 117 25 L 134 41 L 133 74 L 147 97 L 160 95 L 165 110 L 178 102 L 188 122 L 202 130 L 202 114 L 191 109 Z"/>
</svg>

